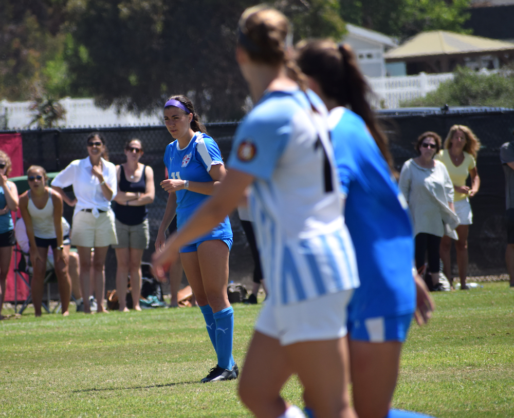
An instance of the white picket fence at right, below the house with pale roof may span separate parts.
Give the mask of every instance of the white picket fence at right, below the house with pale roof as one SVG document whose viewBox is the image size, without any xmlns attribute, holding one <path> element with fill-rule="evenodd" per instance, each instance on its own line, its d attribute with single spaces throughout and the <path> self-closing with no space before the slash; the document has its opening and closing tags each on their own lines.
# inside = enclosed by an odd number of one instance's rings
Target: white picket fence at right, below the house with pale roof
<svg viewBox="0 0 514 418">
<path fill-rule="evenodd" d="M 377 98 L 373 101 L 376 108 L 395 109 L 405 100 L 425 97 L 436 90 L 440 83 L 453 79 L 453 73 L 407 75 L 403 77 L 367 78 Z"/>
</svg>

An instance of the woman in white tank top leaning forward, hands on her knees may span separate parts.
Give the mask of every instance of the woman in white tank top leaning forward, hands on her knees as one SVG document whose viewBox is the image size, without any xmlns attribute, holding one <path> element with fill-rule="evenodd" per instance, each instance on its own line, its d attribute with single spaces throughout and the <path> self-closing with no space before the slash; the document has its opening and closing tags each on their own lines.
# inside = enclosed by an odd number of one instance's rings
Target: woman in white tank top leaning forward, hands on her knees
<svg viewBox="0 0 514 418">
<path fill-rule="evenodd" d="M 41 316 L 46 258 L 48 247 L 53 251 L 53 265 L 61 297 L 63 316 L 68 316 L 71 281 L 68 276 L 69 237 L 63 237 L 63 200 L 59 193 L 48 187 L 46 170 L 31 165 L 27 170 L 29 189 L 20 196 L 20 212 L 29 239 L 32 263 L 32 303 L 35 316 Z"/>
</svg>

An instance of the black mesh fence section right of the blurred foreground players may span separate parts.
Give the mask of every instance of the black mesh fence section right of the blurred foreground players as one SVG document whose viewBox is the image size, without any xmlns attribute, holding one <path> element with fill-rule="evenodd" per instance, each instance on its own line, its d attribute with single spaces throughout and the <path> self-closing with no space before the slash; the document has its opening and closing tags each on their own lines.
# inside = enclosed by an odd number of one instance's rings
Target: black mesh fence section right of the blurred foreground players
<svg viewBox="0 0 514 418">
<path fill-rule="evenodd" d="M 454 124 L 469 126 L 482 143 L 477 160 L 481 179 L 479 193 L 470 199 L 473 224 L 469 227 L 469 271 L 473 275 L 506 272 L 505 248 L 505 178 L 500 163 L 500 147 L 514 140 L 514 110 L 458 109 L 450 111 L 383 112 L 380 118 L 391 139 L 391 151 L 397 169 L 415 156 L 413 143 L 427 130 L 437 132 L 443 140 Z M 468 179 L 469 185 L 469 179 Z M 455 260 L 454 249 L 452 259 Z M 456 263 L 452 263 L 457 274 Z"/>
</svg>

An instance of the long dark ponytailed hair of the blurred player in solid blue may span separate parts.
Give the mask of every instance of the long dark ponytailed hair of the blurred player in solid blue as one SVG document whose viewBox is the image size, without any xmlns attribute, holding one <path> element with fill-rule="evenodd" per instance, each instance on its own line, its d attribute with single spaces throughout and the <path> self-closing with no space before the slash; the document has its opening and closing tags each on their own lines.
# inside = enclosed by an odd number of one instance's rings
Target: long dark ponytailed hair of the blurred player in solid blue
<svg viewBox="0 0 514 418">
<path fill-rule="evenodd" d="M 389 140 L 366 100 L 373 92 L 359 70 L 352 48 L 346 44 L 337 45 L 331 40 L 302 42 L 298 46 L 297 61 L 300 69 L 319 83 L 325 96 L 335 99 L 340 106 L 351 108 L 364 120 L 396 176 Z"/>
</svg>

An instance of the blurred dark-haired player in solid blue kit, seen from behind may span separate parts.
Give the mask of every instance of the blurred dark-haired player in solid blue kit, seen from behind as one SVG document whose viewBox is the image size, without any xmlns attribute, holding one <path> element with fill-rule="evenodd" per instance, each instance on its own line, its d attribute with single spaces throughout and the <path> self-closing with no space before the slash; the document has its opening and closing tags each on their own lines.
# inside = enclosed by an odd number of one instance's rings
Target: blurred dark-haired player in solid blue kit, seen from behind
<svg viewBox="0 0 514 418">
<path fill-rule="evenodd" d="M 334 154 L 347 195 L 345 222 L 361 281 L 348 305 L 355 410 L 359 418 L 419 416 L 390 410 L 416 289 L 420 325 L 433 305 L 424 283 L 417 275 L 413 278 L 410 215 L 392 175 L 387 137 L 366 101 L 370 90 L 350 47 L 328 40 L 302 42 L 297 60 L 309 87 L 329 110 Z"/>
</svg>

